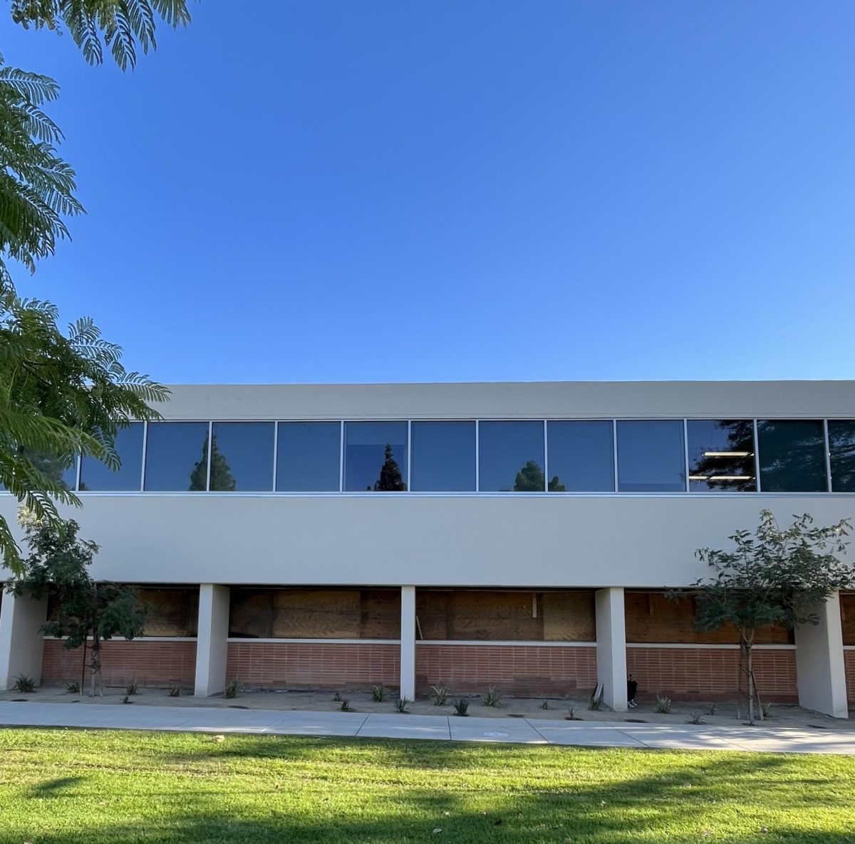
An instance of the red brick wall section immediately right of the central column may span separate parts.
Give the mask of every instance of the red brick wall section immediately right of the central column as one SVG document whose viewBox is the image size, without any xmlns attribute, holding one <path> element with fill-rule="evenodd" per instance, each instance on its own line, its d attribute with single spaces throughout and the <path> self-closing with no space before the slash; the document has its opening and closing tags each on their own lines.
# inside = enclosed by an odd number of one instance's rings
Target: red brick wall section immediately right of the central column
<svg viewBox="0 0 855 844">
<path fill-rule="evenodd" d="M 586 693 L 597 685 L 597 648 L 416 644 L 416 688 L 452 692 L 497 686 L 507 695 Z"/>
</svg>

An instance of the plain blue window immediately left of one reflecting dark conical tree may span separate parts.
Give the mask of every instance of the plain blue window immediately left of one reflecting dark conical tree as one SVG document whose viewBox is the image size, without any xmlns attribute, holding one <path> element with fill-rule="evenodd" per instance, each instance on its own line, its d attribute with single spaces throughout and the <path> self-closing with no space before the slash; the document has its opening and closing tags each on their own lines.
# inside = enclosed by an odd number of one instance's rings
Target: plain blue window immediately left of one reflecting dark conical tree
<svg viewBox="0 0 855 844">
<path fill-rule="evenodd" d="M 280 492 L 338 492 L 341 425 L 338 422 L 280 422 L 276 489 Z"/>
</svg>

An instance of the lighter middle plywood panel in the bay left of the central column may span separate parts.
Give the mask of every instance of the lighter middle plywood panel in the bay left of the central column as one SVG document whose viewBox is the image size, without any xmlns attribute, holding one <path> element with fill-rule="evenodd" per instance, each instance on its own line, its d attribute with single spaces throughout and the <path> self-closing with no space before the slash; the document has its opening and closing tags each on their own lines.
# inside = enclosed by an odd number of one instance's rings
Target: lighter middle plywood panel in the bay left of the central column
<svg viewBox="0 0 855 844">
<path fill-rule="evenodd" d="M 358 589 L 277 590 L 273 636 L 277 639 L 357 639 L 362 617 Z"/>
</svg>

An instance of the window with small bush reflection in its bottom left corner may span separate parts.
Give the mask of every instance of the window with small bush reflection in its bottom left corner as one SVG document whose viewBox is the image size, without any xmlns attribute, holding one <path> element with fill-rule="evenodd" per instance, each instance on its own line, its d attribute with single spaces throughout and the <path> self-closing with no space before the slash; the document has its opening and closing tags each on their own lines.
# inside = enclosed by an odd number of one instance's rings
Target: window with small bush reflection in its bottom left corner
<svg viewBox="0 0 855 844">
<path fill-rule="evenodd" d="M 611 422 L 547 422 L 550 492 L 613 492 Z"/>
</svg>

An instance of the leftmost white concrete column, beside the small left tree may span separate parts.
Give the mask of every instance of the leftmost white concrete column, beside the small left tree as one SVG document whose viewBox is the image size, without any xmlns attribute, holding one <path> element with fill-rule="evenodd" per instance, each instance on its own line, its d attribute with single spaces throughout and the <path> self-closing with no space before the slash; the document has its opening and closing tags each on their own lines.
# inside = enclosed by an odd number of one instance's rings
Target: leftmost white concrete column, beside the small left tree
<svg viewBox="0 0 855 844">
<path fill-rule="evenodd" d="M 15 677 L 26 674 L 42 682 L 44 633 L 48 599 L 16 598 L 7 592 L 0 606 L 0 689 L 15 685 Z"/>
</svg>

